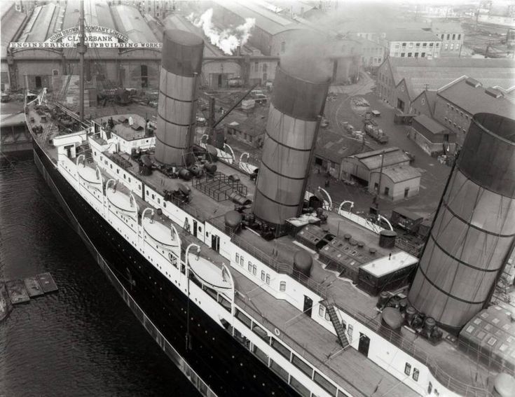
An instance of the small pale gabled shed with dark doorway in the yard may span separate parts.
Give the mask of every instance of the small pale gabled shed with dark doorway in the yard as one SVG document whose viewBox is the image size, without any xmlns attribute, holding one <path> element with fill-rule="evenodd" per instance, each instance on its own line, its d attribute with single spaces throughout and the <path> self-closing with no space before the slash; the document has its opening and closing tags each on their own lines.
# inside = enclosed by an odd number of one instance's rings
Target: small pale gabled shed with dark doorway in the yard
<svg viewBox="0 0 515 397">
<path fill-rule="evenodd" d="M 413 197 L 418 195 L 421 176 L 418 169 L 409 165 L 376 170 L 371 172 L 369 192 L 378 192 L 380 197 L 392 201 Z"/>
</svg>

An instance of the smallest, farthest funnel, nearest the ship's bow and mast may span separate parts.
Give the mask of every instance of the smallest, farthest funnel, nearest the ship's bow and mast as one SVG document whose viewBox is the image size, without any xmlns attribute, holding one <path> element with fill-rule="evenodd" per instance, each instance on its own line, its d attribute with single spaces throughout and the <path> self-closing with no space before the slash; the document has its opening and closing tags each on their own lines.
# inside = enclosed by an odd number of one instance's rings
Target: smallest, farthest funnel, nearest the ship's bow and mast
<svg viewBox="0 0 515 397">
<path fill-rule="evenodd" d="M 156 130 L 156 160 L 163 164 L 184 165 L 184 153 L 191 151 L 203 51 L 204 41 L 195 34 L 163 34 Z"/>
</svg>

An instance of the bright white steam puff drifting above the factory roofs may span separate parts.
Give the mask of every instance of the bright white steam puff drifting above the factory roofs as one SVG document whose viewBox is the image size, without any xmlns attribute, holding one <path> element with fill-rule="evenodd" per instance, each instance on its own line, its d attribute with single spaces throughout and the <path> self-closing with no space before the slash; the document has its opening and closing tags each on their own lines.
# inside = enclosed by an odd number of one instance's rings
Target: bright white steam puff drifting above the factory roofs
<svg viewBox="0 0 515 397">
<path fill-rule="evenodd" d="M 245 23 L 235 28 L 228 28 L 220 31 L 214 27 L 212 22 L 213 9 L 210 8 L 199 18 L 194 18 L 193 13 L 188 15 L 187 20 L 193 22 L 196 27 L 201 27 L 205 36 L 210 42 L 220 48 L 226 55 L 232 55 L 238 46 L 243 46 L 250 37 L 250 31 L 256 25 L 254 18 L 245 18 Z"/>
</svg>

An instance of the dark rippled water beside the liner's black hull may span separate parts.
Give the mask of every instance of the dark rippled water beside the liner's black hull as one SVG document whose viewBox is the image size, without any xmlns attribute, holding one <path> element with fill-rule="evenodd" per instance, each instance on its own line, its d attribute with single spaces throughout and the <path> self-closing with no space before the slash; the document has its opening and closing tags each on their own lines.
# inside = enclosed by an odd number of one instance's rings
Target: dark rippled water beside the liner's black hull
<svg viewBox="0 0 515 397">
<path fill-rule="evenodd" d="M 198 396 L 69 227 L 32 154 L 0 165 L 0 279 L 59 292 L 0 323 L 0 396 Z"/>
</svg>

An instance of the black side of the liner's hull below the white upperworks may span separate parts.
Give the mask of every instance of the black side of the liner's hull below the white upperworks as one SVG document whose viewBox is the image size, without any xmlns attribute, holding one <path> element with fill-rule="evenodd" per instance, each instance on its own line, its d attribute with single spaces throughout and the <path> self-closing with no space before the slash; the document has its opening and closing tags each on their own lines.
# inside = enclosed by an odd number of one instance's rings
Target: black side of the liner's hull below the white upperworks
<svg viewBox="0 0 515 397">
<path fill-rule="evenodd" d="M 296 395 L 195 302 L 190 300 L 188 305 L 186 295 L 64 179 L 35 139 L 33 145 L 36 167 L 93 258 L 140 323 L 202 395 Z M 186 348 L 187 328 L 191 349 Z"/>
</svg>

